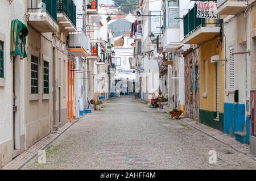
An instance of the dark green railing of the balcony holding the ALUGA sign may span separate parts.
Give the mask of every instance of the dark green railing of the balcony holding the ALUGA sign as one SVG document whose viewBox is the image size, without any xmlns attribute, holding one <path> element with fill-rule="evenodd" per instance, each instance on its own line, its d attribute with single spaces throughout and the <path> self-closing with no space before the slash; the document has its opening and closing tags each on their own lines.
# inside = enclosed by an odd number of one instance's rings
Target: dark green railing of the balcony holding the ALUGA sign
<svg viewBox="0 0 256 181">
<path fill-rule="evenodd" d="M 188 36 L 191 32 L 195 31 L 199 27 L 216 27 L 219 24 L 218 19 L 197 18 L 196 11 L 197 5 L 194 6 L 183 18 L 184 37 Z"/>
</svg>

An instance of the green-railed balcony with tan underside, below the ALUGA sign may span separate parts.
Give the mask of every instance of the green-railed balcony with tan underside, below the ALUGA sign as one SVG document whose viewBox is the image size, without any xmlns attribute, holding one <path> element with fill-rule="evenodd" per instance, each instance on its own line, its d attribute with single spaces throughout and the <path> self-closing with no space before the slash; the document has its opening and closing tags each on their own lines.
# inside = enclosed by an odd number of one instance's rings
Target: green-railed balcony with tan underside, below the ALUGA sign
<svg viewBox="0 0 256 181">
<path fill-rule="evenodd" d="M 220 33 L 218 19 L 196 18 L 197 5 L 183 18 L 184 44 L 201 44 L 211 40 Z"/>
</svg>

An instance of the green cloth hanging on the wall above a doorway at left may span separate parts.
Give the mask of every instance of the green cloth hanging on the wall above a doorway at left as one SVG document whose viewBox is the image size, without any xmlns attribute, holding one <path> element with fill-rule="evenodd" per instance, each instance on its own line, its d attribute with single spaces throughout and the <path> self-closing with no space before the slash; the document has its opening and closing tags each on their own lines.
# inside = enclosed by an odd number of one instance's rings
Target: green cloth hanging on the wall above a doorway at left
<svg viewBox="0 0 256 181">
<path fill-rule="evenodd" d="M 10 35 L 10 51 L 11 55 L 19 55 L 20 59 L 27 57 L 26 54 L 26 36 L 28 35 L 28 28 L 18 19 L 11 21 L 11 35 Z"/>
</svg>

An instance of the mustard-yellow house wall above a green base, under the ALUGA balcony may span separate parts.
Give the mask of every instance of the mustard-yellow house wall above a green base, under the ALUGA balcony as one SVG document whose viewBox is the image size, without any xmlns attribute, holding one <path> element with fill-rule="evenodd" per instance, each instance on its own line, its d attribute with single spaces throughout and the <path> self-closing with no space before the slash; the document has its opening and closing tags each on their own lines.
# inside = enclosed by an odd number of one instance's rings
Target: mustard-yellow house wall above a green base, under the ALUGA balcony
<svg viewBox="0 0 256 181">
<path fill-rule="evenodd" d="M 216 64 L 210 63 L 210 57 L 220 52 L 220 59 L 224 59 L 225 48 L 217 48 L 218 38 L 200 45 L 199 64 L 200 64 L 200 109 L 216 111 Z M 223 47 L 223 46 L 222 46 Z M 207 97 L 203 97 L 205 86 L 205 67 L 204 61 L 208 62 L 208 87 Z M 224 112 L 224 62 L 220 62 L 220 111 Z"/>
</svg>

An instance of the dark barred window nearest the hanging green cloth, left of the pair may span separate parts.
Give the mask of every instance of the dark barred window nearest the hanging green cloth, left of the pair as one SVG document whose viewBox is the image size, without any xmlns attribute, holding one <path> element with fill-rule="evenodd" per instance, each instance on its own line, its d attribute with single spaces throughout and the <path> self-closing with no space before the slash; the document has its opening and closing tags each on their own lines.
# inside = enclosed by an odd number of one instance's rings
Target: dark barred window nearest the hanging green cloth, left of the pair
<svg viewBox="0 0 256 181">
<path fill-rule="evenodd" d="M 38 94 L 38 57 L 31 55 L 31 94 Z"/>
</svg>

